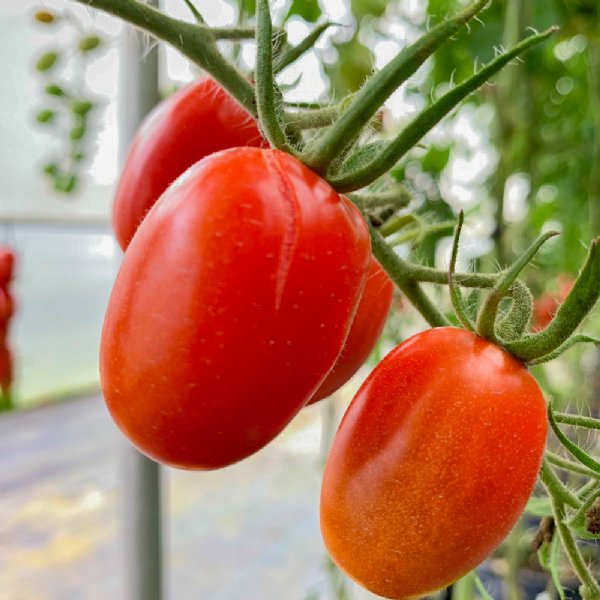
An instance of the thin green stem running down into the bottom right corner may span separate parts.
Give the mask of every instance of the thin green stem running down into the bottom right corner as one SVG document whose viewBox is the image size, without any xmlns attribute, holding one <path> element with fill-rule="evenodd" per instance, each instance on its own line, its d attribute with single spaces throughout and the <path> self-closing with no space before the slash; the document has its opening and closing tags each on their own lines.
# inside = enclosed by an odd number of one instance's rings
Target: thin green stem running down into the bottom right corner
<svg viewBox="0 0 600 600">
<path fill-rule="evenodd" d="M 575 574 L 583 585 L 582 596 L 584 598 L 600 598 L 600 586 L 598 586 L 598 582 L 588 569 L 585 559 L 577 547 L 577 542 L 565 523 L 567 515 L 565 510 L 564 486 L 546 461 L 542 463 L 540 478 L 552 501 L 554 521 L 562 546 Z"/>
</svg>

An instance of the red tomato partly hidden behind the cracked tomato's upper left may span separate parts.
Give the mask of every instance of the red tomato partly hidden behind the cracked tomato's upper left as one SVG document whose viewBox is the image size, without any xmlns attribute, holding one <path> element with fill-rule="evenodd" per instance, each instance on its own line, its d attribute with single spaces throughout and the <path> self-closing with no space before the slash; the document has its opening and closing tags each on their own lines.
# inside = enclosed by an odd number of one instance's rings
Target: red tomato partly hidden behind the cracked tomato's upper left
<svg viewBox="0 0 600 600">
<path fill-rule="evenodd" d="M 113 227 L 121 248 L 188 167 L 219 150 L 264 144 L 252 117 L 208 77 L 161 102 L 137 133 L 117 187 Z"/>
</svg>

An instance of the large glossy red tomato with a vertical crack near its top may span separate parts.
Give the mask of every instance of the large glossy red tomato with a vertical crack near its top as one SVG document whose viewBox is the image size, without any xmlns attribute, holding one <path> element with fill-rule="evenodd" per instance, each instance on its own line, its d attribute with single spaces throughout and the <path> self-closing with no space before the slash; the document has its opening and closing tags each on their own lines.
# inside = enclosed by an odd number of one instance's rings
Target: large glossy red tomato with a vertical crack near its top
<svg viewBox="0 0 600 600">
<path fill-rule="evenodd" d="M 183 468 L 256 452 L 337 359 L 369 260 L 356 207 L 295 158 L 203 159 L 148 213 L 112 291 L 100 372 L 117 425 Z"/>
</svg>

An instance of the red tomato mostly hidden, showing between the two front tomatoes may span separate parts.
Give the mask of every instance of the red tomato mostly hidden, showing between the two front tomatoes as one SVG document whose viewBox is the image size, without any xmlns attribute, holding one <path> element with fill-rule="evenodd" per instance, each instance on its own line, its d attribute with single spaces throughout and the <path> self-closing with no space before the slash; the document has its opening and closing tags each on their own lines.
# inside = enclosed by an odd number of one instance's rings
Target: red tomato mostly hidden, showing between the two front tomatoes
<svg viewBox="0 0 600 600">
<path fill-rule="evenodd" d="M 371 258 L 367 282 L 356 315 L 352 321 L 348 339 L 333 369 L 315 392 L 309 404 L 330 396 L 342 387 L 367 360 L 377 343 L 387 320 L 394 296 L 394 283 Z"/>
</svg>

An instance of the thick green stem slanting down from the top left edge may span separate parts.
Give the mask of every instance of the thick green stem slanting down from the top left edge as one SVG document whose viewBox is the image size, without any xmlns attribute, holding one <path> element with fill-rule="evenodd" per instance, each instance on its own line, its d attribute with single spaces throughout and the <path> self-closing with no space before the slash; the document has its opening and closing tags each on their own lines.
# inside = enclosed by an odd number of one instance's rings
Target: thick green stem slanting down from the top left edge
<svg viewBox="0 0 600 600">
<path fill-rule="evenodd" d="M 210 73 L 254 118 L 258 116 L 250 82 L 219 52 L 209 33 L 194 23 L 174 19 L 136 0 L 72 0 L 119 17 L 155 38 L 171 44 Z"/>
</svg>

